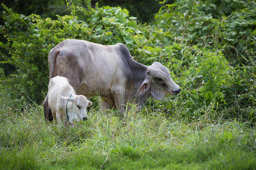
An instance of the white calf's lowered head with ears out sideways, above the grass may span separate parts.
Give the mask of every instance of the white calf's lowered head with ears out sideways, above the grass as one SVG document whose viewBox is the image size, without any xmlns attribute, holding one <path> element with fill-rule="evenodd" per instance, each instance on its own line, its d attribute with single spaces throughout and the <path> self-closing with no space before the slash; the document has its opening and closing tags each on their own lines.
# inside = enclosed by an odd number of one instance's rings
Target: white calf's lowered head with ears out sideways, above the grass
<svg viewBox="0 0 256 170">
<path fill-rule="evenodd" d="M 67 107 L 69 122 L 71 122 L 71 124 L 73 124 L 74 121 L 84 121 L 88 119 L 86 108 L 92 105 L 92 101 L 87 100 L 83 95 L 63 97 L 63 99 L 71 102 L 71 105 Z"/>
</svg>

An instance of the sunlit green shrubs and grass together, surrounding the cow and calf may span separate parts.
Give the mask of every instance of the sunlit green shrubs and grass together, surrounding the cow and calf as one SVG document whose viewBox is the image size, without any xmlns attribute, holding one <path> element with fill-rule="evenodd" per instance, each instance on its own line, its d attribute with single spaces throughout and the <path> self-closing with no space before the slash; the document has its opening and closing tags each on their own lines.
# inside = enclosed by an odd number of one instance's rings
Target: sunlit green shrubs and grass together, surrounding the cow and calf
<svg viewBox="0 0 256 170">
<path fill-rule="evenodd" d="M 163 1 L 150 24 L 67 2 L 71 14 L 56 19 L 2 5 L 0 61 L 16 71 L 0 67 L 1 168 L 256 167 L 254 1 Z M 182 91 L 123 119 L 101 113 L 96 97 L 89 121 L 46 124 L 48 52 L 65 39 L 122 42 L 137 61 L 167 66 Z"/>
</svg>

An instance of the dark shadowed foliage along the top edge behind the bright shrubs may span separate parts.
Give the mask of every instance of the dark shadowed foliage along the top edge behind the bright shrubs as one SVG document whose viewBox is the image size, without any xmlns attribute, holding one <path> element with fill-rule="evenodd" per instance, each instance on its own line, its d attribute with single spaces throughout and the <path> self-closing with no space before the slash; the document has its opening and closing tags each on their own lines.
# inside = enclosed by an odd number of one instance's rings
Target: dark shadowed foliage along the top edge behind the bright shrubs
<svg viewBox="0 0 256 170">
<path fill-rule="evenodd" d="M 88 7 L 88 3 L 84 0 L 15 0 L 2 2 L 11 7 L 14 12 L 23 15 L 38 14 L 44 18 L 56 19 L 57 15 L 70 14 L 71 9 L 67 7 L 66 2 L 73 3 L 75 6 Z M 96 6 L 122 6 L 130 11 L 130 16 L 137 17 L 142 23 L 150 22 L 154 18 L 154 14 L 158 12 L 161 5 L 160 0 L 92 0 L 90 1 L 92 7 Z M 174 0 L 167 0 L 165 3 L 173 3 Z"/>
</svg>

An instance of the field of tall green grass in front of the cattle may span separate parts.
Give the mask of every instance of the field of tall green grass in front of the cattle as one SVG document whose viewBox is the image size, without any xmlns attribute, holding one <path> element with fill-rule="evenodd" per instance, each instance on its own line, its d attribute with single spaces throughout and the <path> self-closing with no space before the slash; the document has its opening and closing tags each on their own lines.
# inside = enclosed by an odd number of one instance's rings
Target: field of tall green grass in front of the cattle
<svg viewBox="0 0 256 170">
<path fill-rule="evenodd" d="M 75 128 L 44 121 L 43 108 L 0 98 L 0 169 L 255 169 L 254 126 L 174 121 L 144 109 L 101 113 Z"/>
</svg>

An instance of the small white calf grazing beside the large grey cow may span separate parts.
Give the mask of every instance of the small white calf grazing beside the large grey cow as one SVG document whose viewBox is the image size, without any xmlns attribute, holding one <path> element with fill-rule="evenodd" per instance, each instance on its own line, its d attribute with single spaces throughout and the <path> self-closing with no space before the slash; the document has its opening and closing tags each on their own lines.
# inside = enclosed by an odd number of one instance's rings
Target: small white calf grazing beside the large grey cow
<svg viewBox="0 0 256 170">
<path fill-rule="evenodd" d="M 65 126 L 74 121 L 87 120 L 86 108 L 92 105 L 84 95 L 76 95 L 68 79 L 63 76 L 55 76 L 49 81 L 48 104 L 53 119 L 59 126 L 64 120 Z"/>
</svg>

